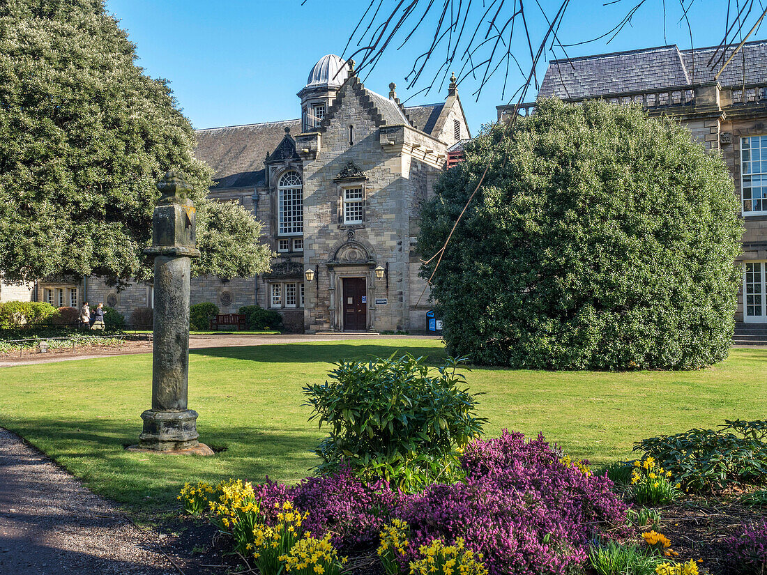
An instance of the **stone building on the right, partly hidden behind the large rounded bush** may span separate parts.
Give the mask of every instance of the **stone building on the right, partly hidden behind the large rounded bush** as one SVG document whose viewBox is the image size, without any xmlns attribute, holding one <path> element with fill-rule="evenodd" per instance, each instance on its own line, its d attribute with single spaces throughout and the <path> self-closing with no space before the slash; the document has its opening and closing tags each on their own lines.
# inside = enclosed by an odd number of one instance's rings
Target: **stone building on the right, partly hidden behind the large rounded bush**
<svg viewBox="0 0 767 575">
<path fill-rule="evenodd" d="M 728 48 L 721 61 L 719 51 L 712 65 L 716 48 L 692 51 L 676 45 L 553 60 L 538 96 L 639 102 L 650 115 L 680 120 L 706 149 L 722 153 L 746 228 L 738 258 L 743 284 L 736 321 L 762 324 L 767 333 L 767 41 L 744 44 L 716 78 L 733 50 Z M 512 108 L 499 106 L 499 120 Z M 534 108 L 535 103 L 524 104 L 522 113 Z M 753 327 L 744 324 L 739 330 Z"/>
</svg>

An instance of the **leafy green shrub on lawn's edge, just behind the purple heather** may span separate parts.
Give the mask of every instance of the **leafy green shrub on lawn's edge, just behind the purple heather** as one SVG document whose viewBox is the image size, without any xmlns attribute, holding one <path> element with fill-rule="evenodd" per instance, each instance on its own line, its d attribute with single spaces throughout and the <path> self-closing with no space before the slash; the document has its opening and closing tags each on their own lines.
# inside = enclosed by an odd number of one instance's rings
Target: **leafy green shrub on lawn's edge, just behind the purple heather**
<svg viewBox="0 0 767 575">
<path fill-rule="evenodd" d="M 476 395 L 448 359 L 436 373 L 405 355 L 370 363 L 342 361 L 330 380 L 304 387 L 310 420 L 330 435 L 315 450 L 321 473 L 341 462 L 368 480 L 385 478 L 403 489 L 423 488 L 461 475 L 458 449 L 482 432 Z"/>
</svg>

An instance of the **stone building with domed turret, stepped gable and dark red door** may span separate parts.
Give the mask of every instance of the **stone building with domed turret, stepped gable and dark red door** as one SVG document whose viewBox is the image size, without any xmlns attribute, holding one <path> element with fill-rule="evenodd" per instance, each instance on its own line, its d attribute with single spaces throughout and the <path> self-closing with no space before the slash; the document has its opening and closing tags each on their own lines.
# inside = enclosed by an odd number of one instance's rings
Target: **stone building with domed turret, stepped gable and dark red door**
<svg viewBox="0 0 767 575">
<path fill-rule="evenodd" d="M 212 301 L 221 313 L 258 304 L 294 331 L 426 329 L 413 251 L 420 204 L 449 148 L 471 137 L 455 78 L 443 102 L 404 107 L 394 84 L 377 94 L 349 64 L 327 55 L 314 65 L 298 119 L 196 131 L 196 156 L 215 172 L 210 197 L 250 209 L 277 258 L 257 278 L 193 278 L 193 304 Z M 149 284 L 117 291 L 61 278 L 32 291 L 56 306 L 85 297 L 126 315 L 153 305 Z"/>
</svg>

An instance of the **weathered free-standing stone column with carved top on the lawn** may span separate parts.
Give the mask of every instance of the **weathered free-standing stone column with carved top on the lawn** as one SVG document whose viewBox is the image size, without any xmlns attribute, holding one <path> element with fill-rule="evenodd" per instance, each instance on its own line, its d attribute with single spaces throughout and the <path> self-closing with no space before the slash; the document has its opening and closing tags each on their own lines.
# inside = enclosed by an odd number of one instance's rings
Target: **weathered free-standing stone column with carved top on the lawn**
<svg viewBox="0 0 767 575">
<path fill-rule="evenodd" d="M 141 414 L 143 433 L 137 449 L 212 455 L 197 441 L 197 412 L 187 409 L 189 384 L 189 268 L 196 248 L 195 207 L 191 189 L 175 172 L 157 184 L 162 196 L 152 218 L 154 256 L 154 347 L 152 409 Z"/>
</svg>

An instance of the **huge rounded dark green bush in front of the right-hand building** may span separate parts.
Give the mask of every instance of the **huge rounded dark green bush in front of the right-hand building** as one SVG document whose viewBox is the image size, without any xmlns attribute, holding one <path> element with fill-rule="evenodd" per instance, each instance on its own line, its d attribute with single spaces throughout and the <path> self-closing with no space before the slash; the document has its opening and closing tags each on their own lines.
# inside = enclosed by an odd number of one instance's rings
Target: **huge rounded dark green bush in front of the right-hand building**
<svg viewBox="0 0 767 575">
<path fill-rule="evenodd" d="M 448 353 L 531 369 L 693 369 L 729 349 L 742 225 L 721 156 L 640 107 L 540 100 L 436 183 L 418 251 Z M 436 258 L 424 266 L 428 278 Z"/>
</svg>

